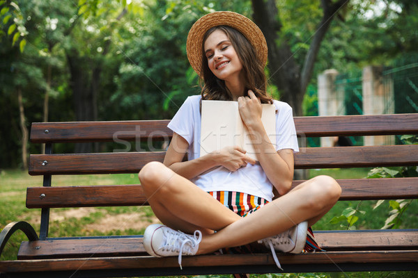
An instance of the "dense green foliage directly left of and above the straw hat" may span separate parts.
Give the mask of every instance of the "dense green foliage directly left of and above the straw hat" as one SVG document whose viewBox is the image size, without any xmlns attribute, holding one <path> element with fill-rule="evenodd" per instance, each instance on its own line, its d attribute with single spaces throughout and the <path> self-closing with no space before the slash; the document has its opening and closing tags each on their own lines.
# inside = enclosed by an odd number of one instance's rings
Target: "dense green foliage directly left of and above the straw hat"
<svg viewBox="0 0 418 278">
<path fill-rule="evenodd" d="M 190 26 L 213 10 L 248 13 L 250 6 L 213 1 L 146 3 L 144 17 L 120 33 L 123 43 L 119 50 L 125 60 L 114 76 L 116 90 L 105 97 L 106 119 L 171 118 L 187 96 L 200 94 L 185 43 Z M 112 110 L 115 106 L 121 111 Z"/>
</svg>

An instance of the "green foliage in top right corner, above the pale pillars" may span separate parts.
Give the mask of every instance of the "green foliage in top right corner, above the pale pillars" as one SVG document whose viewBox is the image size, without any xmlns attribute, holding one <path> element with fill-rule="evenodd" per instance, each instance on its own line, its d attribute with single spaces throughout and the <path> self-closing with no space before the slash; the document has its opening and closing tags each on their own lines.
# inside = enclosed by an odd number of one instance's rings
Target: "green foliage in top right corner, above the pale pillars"
<svg viewBox="0 0 418 278">
<path fill-rule="evenodd" d="M 417 20 L 417 1 L 350 1 L 325 35 L 312 83 L 327 69 L 356 72 L 417 54 Z"/>
</svg>

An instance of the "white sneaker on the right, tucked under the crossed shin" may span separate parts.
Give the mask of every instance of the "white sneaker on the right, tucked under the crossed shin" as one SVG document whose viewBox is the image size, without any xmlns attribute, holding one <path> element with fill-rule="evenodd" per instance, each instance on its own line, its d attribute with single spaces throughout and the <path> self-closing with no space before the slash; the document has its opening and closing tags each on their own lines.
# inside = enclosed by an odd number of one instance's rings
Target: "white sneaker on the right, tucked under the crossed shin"
<svg viewBox="0 0 418 278">
<path fill-rule="evenodd" d="M 293 254 L 301 253 L 307 241 L 307 230 L 308 222 L 304 221 L 277 236 L 270 236 L 269 238 L 258 240 L 258 243 L 264 243 L 266 247 L 270 247 L 274 261 L 283 270 L 274 251 Z"/>
</svg>

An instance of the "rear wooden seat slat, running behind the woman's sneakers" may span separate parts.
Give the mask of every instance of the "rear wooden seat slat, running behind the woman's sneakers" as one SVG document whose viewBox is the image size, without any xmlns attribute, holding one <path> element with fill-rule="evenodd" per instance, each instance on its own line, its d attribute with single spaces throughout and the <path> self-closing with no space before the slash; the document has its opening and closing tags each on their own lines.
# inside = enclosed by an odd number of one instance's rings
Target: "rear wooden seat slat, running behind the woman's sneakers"
<svg viewBox="0 0 418 278">
<path fill-rule="evenodd" d="M 317 231 L 327 251 L 417 250 L 418 230 Z M 18 259 L 144 256 L 142 237 L 24 241 Z"/>
</svg>

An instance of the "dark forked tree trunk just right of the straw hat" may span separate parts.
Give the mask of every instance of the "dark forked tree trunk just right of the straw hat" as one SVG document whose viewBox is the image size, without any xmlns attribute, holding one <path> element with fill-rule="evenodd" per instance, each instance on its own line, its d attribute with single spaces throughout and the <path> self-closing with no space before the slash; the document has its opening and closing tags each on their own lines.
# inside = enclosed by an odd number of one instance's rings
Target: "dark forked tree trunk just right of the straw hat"
<svg viewBox="0 0 418 278">
<path fill-rule="evenodd" d="M 293 107 L 295 115 L 302 115 L 302 101 L 314 70 L 320 44 L 332 19 L 348 0 L 322 0 L 323 16 L 317 24 L 309 50 L 302 65 L 297 63 L 279 19 L 274 0 L 252 0 L 254 22 L 258 24 L 268 43 L 270 80 L 281 93 L 281 99 Z"/>
</svg>

